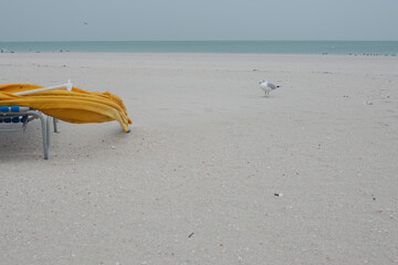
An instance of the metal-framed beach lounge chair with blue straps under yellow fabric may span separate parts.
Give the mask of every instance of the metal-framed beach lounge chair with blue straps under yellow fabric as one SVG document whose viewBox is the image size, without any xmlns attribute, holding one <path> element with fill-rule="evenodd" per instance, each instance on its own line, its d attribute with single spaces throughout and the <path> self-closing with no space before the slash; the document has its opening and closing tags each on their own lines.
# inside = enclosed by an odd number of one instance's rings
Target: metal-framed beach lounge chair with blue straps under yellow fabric
<svg viewBox="0 0 398 265">
<path fill-rule="evenodd" d="M 0 106 L 0 131 L 25 131 L 28 123 L 40 119 L 43 137 L 44 159 L 50 152 L 50 116 L 44 119 L 41 112 L 24 106 Z M 53 118 L 54 132 L 57 132 L 57 120 Z M 18 125 L 20 124 L 20 125 Z"/>
</svg>

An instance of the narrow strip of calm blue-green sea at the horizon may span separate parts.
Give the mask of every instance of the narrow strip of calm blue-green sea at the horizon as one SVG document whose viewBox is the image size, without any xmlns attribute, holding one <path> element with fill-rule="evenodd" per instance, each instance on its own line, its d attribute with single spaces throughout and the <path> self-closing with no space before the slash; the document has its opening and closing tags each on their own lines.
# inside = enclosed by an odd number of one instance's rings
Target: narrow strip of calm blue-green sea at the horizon
<svg viewBox="0 0 398 265">
<path fill-rule="evenodd" d="M 93 41 L 0 42 L 0 52 L 268 53 L 398 55 L 397 41 Z"/>
</svg>

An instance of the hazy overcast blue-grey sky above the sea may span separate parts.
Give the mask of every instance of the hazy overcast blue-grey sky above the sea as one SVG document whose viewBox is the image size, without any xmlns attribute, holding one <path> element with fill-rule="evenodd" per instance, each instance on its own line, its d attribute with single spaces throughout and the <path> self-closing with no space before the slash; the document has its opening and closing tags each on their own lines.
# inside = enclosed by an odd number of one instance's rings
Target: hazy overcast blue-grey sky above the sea
<svg viewBox="0 0 398 265">
<path fill-rule="evenodd" d="M 397 11 L 398 0 L 0 0 L 0 41 L 398 41 Z"/>
</svg>

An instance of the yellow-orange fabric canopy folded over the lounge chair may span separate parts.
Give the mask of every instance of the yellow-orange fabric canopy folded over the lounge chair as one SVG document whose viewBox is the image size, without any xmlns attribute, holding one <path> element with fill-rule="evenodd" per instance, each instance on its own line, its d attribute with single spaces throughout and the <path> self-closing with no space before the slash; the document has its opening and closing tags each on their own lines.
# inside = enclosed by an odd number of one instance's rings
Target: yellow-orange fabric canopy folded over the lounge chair
<svg viewBox="0 0 398 265">
<path fill-rule="evenodd" d="M 124 131 L 129 131 L 126 107 L 122 98 L 108 92 L 86 92 L 73 87 L 40 92 L 23 96 L 13 93 L 42 88 L 29 84 L 0 84 L 0 106 L 28 106 L 54 118 L 73 123 L 90 124 L 117 120 Z"/>
</svg>

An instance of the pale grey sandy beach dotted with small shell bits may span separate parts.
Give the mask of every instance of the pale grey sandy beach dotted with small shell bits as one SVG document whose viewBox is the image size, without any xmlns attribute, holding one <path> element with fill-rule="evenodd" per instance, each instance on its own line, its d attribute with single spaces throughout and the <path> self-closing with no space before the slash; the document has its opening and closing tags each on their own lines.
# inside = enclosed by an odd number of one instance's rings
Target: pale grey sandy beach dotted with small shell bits
<svg viewBox="0 0 398 265">
<path fill-rule="evenodd" d="M 397 264 L 398 57 L 0 54 L 133 120 L 0 135 L 0 264 Z M 281 85 L 269 98 L 259 81 Z"/>
</svg>

